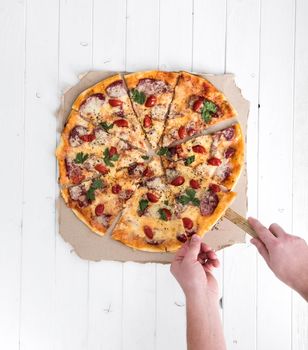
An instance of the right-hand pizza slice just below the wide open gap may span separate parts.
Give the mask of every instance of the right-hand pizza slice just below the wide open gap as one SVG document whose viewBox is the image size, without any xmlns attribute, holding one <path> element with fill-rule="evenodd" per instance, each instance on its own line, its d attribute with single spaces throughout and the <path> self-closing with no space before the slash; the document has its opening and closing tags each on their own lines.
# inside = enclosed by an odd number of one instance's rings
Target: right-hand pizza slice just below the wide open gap
<svg viewBox="0 0 308 350">
<path fill-rule="evenodd" d="M 244 138 L 240 124 L 213 134 L 193 138 L 173 147 L 163 147 L 158 154 L 167 172 L 201 178 L 204 183 L 218 183 L 231 190 L 244 163 Z"/>
</svg>

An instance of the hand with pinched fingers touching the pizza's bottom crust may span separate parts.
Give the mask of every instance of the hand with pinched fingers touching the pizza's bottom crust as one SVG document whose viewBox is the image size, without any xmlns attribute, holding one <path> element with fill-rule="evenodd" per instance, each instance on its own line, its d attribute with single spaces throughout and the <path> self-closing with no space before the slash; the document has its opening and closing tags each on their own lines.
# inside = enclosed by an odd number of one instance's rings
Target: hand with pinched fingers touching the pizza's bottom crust
<svg viewBox="0 0 308 350">
<path fill-rule="evenodd" d="M 193 235 L 175 255 L 171 273 L 182 287 L 186 297 L 204 295 L 218 300 L 218 284 L 211 274 L 218 267 L 215 252 L 198 235 Z"/>
</svg>

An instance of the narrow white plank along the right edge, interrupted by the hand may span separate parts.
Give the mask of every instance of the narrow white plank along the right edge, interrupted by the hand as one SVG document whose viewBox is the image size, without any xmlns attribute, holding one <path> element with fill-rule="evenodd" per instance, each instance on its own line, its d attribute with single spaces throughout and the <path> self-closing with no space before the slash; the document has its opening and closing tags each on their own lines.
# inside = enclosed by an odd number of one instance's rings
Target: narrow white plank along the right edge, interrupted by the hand
<svg viewBox="0 0 308 350">
<path fill-rule="evenodd" d="M 308 242 L 308 18 L 307 1 L 296 3 L 294 129 L 293 129 L 293 220 L 292 232 Z M 308 304 L 293 293 L 292 349 L 308 349 Z"/>
</svg>

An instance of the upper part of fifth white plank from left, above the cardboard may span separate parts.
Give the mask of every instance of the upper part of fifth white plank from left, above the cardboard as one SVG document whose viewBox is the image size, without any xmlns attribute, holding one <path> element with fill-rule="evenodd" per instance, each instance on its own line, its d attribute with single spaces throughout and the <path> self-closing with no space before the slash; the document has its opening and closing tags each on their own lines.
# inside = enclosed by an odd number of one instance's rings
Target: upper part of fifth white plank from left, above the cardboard
<svg viewBox="0 0 308 350">
<path fill-rule="evenodd" d="M 150 14 L 150 16 L 149 16 Z M 140 6 L 127 1 L 126 70 L 156 69 L 159 57 L 159 0 Z"/>
</svg>

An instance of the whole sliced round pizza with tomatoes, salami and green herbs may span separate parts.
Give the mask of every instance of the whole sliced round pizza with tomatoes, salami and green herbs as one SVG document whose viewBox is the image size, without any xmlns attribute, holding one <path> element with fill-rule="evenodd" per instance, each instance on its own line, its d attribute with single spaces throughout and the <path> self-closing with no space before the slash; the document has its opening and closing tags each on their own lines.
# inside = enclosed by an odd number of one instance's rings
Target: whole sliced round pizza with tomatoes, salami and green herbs
<svg viewBox="0 0 308 350">
<path fill-rule="evenodd" d="M 236 196 L 244 163 L 236 115 L 198 75 L 109 77 L 73 103 L 56 152 L 62 197 L 99 235 L 112 229 L 134 249 L 175 251 L 209 231 Z"/>
</svg>

